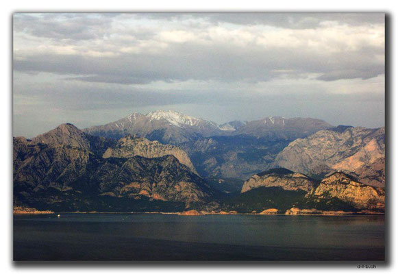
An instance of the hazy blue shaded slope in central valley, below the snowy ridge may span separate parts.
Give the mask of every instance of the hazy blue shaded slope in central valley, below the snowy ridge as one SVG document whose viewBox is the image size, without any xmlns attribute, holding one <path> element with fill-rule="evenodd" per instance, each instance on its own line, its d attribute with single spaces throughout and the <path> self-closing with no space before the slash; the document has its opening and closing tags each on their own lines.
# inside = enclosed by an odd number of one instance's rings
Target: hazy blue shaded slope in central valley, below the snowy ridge
<svg viewBox="0 0 398 274">
<path fill-rule="evenodd" d="M 272 164 L 289 142 L 245 135 L 212 136 L 180 147 L 202 176 L 245 180 Z"/>
</svg>

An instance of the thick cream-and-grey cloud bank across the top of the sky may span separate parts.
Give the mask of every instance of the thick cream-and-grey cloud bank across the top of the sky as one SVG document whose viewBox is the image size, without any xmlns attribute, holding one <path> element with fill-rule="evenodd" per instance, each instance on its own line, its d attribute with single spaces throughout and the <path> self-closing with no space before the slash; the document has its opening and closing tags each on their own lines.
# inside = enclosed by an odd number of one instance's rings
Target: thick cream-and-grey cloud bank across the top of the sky
<svg viewBox="0 0 398 274">
<path fill-rule="evenodd" d="M 319 80 L 332 81 L 368 79 L 384 73 L 384 25 L 333 25 L 321 21 L 322 14 L 193 14 L 201 20 L 212 19 L 207 25 L 190 28 L 184 14 L 172 15 L 181 20 L 180 24 L 154 23 L 150 17 L 145 35 L 137 15 L 18 15 L 14 18 L 14 69 L 119 84 L 189 79 L 262 82 L 286 75 L 308 77 L 312 73 L 319 73 Z M 256 18 L 263 18 L 263 23 L 279 22 L 277 18 L 307 22 L 312 17 L 323 22 L 319 23 L 322 27 L 230 27 L 213 22 L 215 18 L 246 18 L 252 23 L 258 22 Z M 325 14 L 325 18 L 339 17 Z M 353 23 L 364 19 L 352 14 L 343 14 L 342 18 Z M 369 18 L 373 22 L 373 16 Z M 36 39 L 39 45 L 33 47 L 28 42 L 25 46 L 24 35 Z"/>
</svg>

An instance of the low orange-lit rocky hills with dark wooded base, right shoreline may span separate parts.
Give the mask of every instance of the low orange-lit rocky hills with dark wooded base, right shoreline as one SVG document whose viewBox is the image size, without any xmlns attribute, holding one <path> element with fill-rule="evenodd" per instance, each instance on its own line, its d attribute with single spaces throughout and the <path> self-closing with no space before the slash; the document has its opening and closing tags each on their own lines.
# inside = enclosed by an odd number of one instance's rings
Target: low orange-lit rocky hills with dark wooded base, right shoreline
<svg viewBox="0 0 398 274">
<path fill-rule="evenodd" d="M 362 184 L 343 172 L 333 172 L 317 182 L 288 169 L 270 169 L 253 175 L 239 195 L 222 201 L 221 208 L 263 214 L 384 212 L 384 197 L 384 188 Z"/>
</svg>

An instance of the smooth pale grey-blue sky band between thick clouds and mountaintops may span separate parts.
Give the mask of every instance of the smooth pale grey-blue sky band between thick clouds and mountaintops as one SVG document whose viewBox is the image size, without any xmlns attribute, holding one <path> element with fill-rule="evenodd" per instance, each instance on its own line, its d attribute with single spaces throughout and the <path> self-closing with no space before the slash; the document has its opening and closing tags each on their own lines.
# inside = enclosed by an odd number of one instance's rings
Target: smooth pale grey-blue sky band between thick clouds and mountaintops
<svg viewBox="0 0 398 274">
<path fill-rule="evenodd" d="M 101 125 L 132 112 L 145 114 L 158 109 L 177 110 L 216 123 L 279 115 L 313 117 L 334 125 L 384 125 L 381 77 L 378 81 L 365 80 L 363 84 L 358 84 L 362 82 L 358 79 L 327 82 L 326 88 L 316 80 L 285 79 L 282 83 L 256 85 L 256 90 L 252 90 L 250 84 L 238 88 L 229 84 L 214 89 L 211 84 L 195 82 L 184 89 L 169 83 L 166 90 L 158 90 L 156 86 L 132 88 L 61 80 L 35 84 L 33 75 L 17 76 L 26 81 L 21 80 L 14 86 L 14 134 L 18 136 L 33 137 L 66 122 L 80 128 Z M 338 84 L 342 81 L 347 83 Z M 340 90 L 340 86 L 347 90 Z M 336 92 L 325 92 L 325 89 Z M 381 95 L 375 90 L 381 90 Z"/>
</svg>

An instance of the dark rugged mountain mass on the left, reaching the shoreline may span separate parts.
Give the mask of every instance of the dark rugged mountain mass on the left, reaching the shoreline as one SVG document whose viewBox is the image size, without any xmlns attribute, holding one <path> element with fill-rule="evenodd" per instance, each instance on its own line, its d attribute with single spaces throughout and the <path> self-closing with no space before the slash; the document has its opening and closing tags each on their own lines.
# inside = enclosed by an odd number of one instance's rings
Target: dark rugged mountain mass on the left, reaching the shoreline
<svg viewBox="0 0 398 274">
<path fill-rule="evenodd" d="M 166 153 L 147 140 L 136 140 L 133 153 L 145 151 L 145 142 L 153 155 Z M 71 124 L 33 140 L 14 138 L 14 201 L 53 211 L 175 211 L 209 201 L 214 194 L 192 166 L 173 155 L 110 157 L 123 153 L 127 143 L 121 140 L 119 150 L 108 151 L 118 144 L 84 134 Z M 104 151 L 108 158 L 102 157 Z"/>
</svg>

